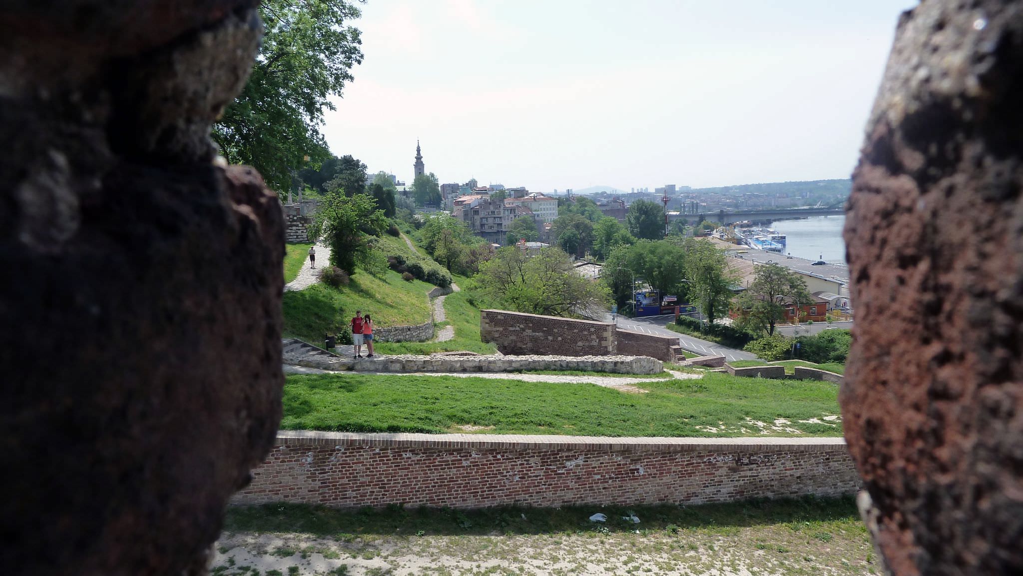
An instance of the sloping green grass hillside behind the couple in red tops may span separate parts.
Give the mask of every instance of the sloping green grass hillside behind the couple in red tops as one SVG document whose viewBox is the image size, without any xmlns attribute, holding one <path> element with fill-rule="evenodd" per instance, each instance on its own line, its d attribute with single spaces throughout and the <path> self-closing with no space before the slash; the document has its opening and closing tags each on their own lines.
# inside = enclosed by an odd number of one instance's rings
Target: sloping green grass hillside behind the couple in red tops
<svg viewBox="0 0 1023 576">
<path fill-rule="evenodd" d="M 405 247 L 408 250 L 408 247 Z M 284 336 L 316 344 L 324 333 L 348 325 L 356 310 L 372 314 L 376 326 L 421 324 L 430 321 L 427 293 L 434 286 L 419 280 L 406 282 L 388 270 L 383 278 L 359 271 L 347 286 L 313 284 L 283 296 Z"/>
</svg>

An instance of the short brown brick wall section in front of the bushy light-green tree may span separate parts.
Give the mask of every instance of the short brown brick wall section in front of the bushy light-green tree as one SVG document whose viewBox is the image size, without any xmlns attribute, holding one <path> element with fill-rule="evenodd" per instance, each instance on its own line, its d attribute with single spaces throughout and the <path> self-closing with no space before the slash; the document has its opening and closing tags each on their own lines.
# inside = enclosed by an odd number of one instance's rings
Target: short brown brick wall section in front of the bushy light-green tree
<svg viewBox="0 0 1023 576">
<path fill-rule="evenodd" d="M 555 316 L 483 310 L 480 339 L 503 354 L 590 356 L 615 354 L 615 325 Z"/>
</svg>

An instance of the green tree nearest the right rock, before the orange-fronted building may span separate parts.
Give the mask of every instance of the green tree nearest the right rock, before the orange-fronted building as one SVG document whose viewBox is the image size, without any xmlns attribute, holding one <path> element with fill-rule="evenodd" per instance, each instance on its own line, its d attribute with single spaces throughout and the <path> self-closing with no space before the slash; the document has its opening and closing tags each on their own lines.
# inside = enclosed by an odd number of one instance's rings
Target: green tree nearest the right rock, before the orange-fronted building
<svg viewBox="0 0 1023 576">
<path fill-rule="evenodd" d="M 774 336 L 774 325 L 785 320 L 789 306 L 812 304 L 806 280 L 780 264 L 759 264 L 750 287 L 738 299 L 741 325 Z"/>
</svg>

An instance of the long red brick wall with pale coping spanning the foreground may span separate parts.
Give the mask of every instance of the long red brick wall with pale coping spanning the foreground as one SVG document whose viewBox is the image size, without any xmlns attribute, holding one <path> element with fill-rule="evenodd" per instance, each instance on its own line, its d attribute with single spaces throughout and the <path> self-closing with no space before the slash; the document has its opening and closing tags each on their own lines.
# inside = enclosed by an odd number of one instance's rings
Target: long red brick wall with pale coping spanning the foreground
<svg viewBox="0 0 1023 576">
<path fill-rule="evenodd" d="M 852 494 L 841 438 L 587 438 L 281 432 L 233 503 L 460 508 Z"/>
</svg>

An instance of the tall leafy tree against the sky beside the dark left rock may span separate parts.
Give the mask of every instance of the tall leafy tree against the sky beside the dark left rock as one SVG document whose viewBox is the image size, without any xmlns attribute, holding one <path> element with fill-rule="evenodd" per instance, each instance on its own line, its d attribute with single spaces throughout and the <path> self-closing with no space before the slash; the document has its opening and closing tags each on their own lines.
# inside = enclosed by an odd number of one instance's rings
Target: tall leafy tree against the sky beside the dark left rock
<svg viewBox="0 0 1023 576">
<path fill-rule="evenodd" d="M 260 53 L 212 136 L 228 162 L 253 166 L 284 193 L 305 157 L 330 157 L 319 126 L 362 62 L 360 33 L 348 26 L 360 11 L 348 0 L 265 0 L 259 11 Z"/>
</svg>

